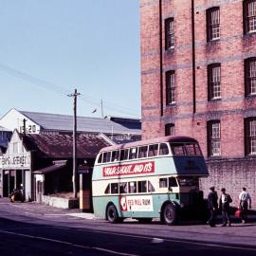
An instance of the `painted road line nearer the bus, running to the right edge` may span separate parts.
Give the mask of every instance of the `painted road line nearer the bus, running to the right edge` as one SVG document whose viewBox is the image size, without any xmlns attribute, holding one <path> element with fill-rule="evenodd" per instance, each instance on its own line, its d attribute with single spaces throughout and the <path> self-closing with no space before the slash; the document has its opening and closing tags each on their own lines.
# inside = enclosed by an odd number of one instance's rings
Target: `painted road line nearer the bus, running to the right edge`
<svg viewBox="0 0 256 256">
<path fill-rule="evenodd" d="M 63 227 L 55 227 L 56 229 L 71 229 L 71 228 L 63 228 Z M 88 229 L 77 229 L 77 230 L 86 230 L 88 231 Z M 124 233 L 119 233 L 119 232 L 108 232 L 108 231 L 101 231 L 101 230 L 92 230 L 89 229 L 90 232 L 94 232 L 94 233 L 102 233 L 102 234 L 111 234 L 111 235 L 118 235 L 118 236 L 124 236 L 124 237 L 132 237 L 132 238 L 143 238 L 143 239 L 147 239 L 147 240 L 151 240 L 154 239 L 151 236 L 140 236 L 140 235 L 132 235 L 132 234 L 124 234 Z M 164 239 L 164 241 L 167 242 L 175 242 L 175 243 L 180 243 L 180 244 L 189 244 L 189 245 L 194 245 L 194 246 L 203 246 L 203 247 L 220 247 L 220 248 L 229 248 L 229 249 L 239 249 L 239 250 L 249 250 L 249 251 L 256 251 L 255 247 L 245 247 L 245 245 L 241 245 L 241 247 L 239 246 L 225 246 L 225 245 L 217 245 L 217 244 L 210 244 L 209 242 L 205 242 L 206 244 L 204 244 L 203 242 L 196 242 L 196 241 L 181 241 L 181 240 L 177 240 L 177 239 L 173 239 L 173 238 L 158 238 L 158 239 Z"/>
</svg>

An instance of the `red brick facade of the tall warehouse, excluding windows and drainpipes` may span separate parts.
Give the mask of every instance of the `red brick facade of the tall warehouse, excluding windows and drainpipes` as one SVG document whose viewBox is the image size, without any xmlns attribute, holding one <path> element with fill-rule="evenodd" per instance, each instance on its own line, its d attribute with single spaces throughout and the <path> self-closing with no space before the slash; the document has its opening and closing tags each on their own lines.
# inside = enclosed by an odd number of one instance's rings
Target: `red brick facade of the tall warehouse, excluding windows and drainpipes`
<svg viewBox="0 0 256 256">
<path fill-rule="evenodd" d="M 255 188 L 252 162 L 247 163 L 247 158 L 244 158 L 244 119 L 256 117 L 256 98 L 245 98 L 244 60 L 256 57 L 256 34 L 243 34 L 243 1 L 194 0 L 195 113 L 192 97 L 192 1 L 161 1 L 163 115 L 160 107 L 159 2 L 140 0 L 142 137 L 164 136 L 165 124 L 172 122 L 176 135 L 198 139 L 203 154 L 207 156 L 207 121 L 220 119 L 220 162 L 226 171 L 214 169 L 218 161 L 209 159 L 214 165 L 209 164 L 210 178 L 204 183 L 204 188 L 215 181 L 226 184 L 229 172 L 232 174 L 232 193 L 240 192 L 242 183 Z M 206 9 L 216 6 L 220 7 L 221 36 L 220 40 L 207 43 Z M 166 51 L 164 20 L 169 17 L 174 17 L 175 47 Z M 221 64 L 220 101 L 208 101 L 207 66 L 211 63 Z M 165 97 L 165 72 L 168 70 L 175 70 L 176 103 L 172 106 L 166 105 Z M 235 158 L 244 160 L 230 164 L 229 159 Z M 250 171 L 247 171 L 247 165 Z M 249 178 L 251 175 L 253 179 Z M 252 193 L 256 198 L 255 189 Z"/>
</svg>

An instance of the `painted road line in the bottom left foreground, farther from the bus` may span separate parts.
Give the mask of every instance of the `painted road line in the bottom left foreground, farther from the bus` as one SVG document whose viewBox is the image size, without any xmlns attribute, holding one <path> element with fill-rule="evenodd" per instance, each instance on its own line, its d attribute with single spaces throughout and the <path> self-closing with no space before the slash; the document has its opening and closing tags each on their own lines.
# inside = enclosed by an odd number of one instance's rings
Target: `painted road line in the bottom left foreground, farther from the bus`
<svg viewBox="0 0 256 256">
<path fill-rule="evenodd" d="M 50 239 L 50 238 L 46 238 L 46 237 L 42 237 L 42 236 L 33 236 L 33 235 L 27 235 L 27 234 L 22 234 L 22 233 L 16 233 L 16 232 L 11 232 L 11 231 L 1 230 L 1 229 L 0 229 L 0 233 L 17 235 L 17 236 L 22 236 L 22 237 L 27 237 L 27 238 L 32 238 L 32 239 L 43 240 L 43 241 L 47 241 L 47 242 L 58 243 L 58 244 L 66 245 L 66 246 L 69 246 L 69 247 L 80 247 L 80 248 L 86 248 L 86 249 L 96 249 L 96 250 L 105 251 L 105 252 L 109 252 L 109 253 L 116 254 L 116 255 L 122 255 L 122 256 L 139 256 L 137 254 L 119 252 L 119 251 L 106 249 L 106 248 L 102 248 L 102 247 L 86 247 L 86 246 L 76 245 L 76 244 L 61 241 L 61 240 Z"/>
</svg>

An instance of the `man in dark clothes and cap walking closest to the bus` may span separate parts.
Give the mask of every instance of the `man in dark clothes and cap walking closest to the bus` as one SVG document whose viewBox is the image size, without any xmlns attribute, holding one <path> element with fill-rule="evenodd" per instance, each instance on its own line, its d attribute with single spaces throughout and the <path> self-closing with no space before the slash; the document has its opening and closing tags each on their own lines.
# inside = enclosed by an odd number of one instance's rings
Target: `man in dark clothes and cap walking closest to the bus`
<svg viewBox="0 0 256 256">
<path fill-rule="evenodd" d="M 210 210 L 210 219 L 207 223 L 210 227 L 215 227 L 218 210 L 218 195 L 217 192 L 215 192 L 214 187 L 210 187 L 210 192 L 208 194 L 208 209 Z"/>
</svg>

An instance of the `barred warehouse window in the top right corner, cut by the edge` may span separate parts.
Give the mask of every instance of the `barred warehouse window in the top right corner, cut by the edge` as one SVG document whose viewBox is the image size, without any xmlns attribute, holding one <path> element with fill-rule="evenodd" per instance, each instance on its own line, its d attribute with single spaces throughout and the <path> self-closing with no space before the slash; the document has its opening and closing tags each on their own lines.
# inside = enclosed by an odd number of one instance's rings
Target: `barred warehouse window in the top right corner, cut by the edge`
<svg viewBox="0 0 256 256">
<path fill-rule="evenodd" d="M 256 0 L 244 1 L 244 32 L 256 32 Z"/>
</svg>

